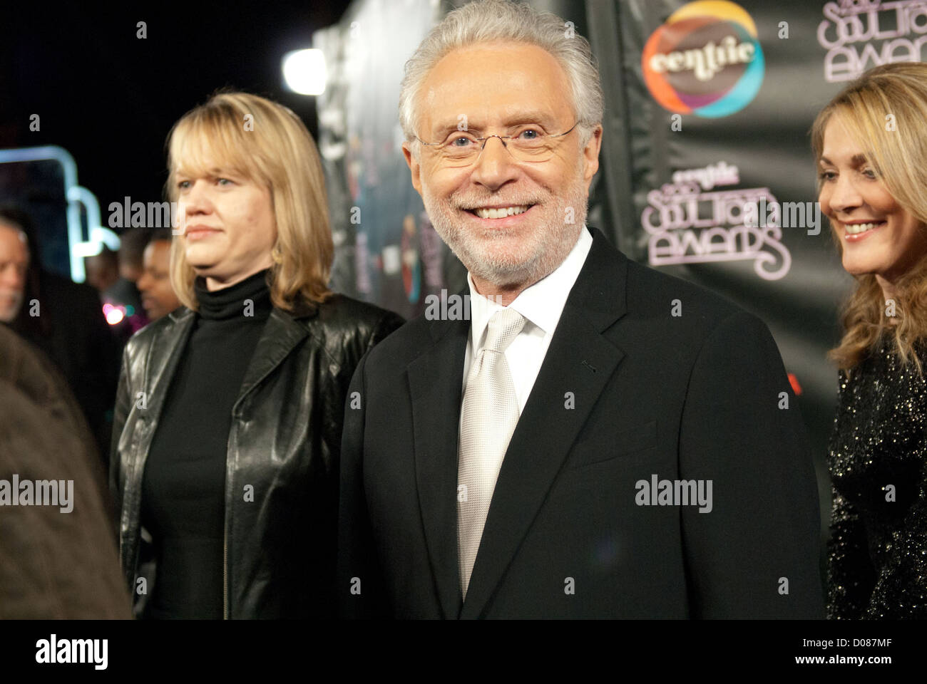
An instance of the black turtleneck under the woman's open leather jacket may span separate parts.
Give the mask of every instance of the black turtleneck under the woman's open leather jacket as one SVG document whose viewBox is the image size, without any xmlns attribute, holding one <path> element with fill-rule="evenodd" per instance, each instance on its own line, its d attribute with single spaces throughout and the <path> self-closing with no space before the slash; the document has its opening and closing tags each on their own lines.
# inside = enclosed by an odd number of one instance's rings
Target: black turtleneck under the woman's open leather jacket
<svg viewBox="0 0 927 684">
<path fill-rule="evenodd" d="M 142 483 L 142 525 L 157 557 L 147 616 L 222 618 L 225 459 L 232 407 L 273 309 L 267 273 L 215 292 L 202 277 L 194 284 L 199 315 Z"/>
</svg>

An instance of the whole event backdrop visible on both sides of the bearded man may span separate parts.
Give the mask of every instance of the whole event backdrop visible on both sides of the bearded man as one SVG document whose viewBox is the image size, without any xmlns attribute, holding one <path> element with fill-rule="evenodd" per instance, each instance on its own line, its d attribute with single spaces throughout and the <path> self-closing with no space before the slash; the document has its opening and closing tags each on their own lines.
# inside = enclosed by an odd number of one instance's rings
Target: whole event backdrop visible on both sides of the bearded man
<svg viewBox="0 0 927 684">
<path fill-rule="evenodd" d="M 808 133 L 862 71 L 923 59 L 927 4 L 532 4 L 587 36 L 599 60 L 603 165 L 589 223 L 630 258 L 711 288 L 768 324 L 809 428 L 826 522 L 837 390 L 826 353 L 853 280 L 815 205 Z M 423 310 L 426 294 L 464 285 L 410 183 L 396 115 L 402 64 L 452 6 L 359 0 L 314 41 L 334 75 L 320 98 L 320 143 L 337 285 L 405 316 Z"/>
</svg>

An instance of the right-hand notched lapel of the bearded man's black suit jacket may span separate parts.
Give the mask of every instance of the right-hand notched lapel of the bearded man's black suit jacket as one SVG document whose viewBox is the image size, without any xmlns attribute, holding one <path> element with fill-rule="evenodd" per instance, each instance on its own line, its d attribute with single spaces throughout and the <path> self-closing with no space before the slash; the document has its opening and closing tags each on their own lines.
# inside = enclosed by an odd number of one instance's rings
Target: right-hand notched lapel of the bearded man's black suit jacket
<svg viewBox="0 0 927 684">
<path fill-rule="evenodd" d="M 590 253 L 502 461 L 460 614 L 463 618 L 482 615 L 592 407 L 624 357 L 602 333 L 626 311 L 626 276 L 627 259 L 600 231 L 593 231 Z M 566 392 L 575 397 L 574 409 L 565 408 Z M 454 416 L 460 413 L 459 402 L 456 409 Z M 452 427 L 456 437 L 457 424 Z M 445 429 L 451 430 L 451 425 Z M 445 449 L 450 446 L 445 444 Z M 456 440 L 453 446 L 456 454 Z M 456 459 L 444 476 L 456 481 Z M 445 527 L 444 533 L 456 538 L 453 530 Z"/>
</svg>

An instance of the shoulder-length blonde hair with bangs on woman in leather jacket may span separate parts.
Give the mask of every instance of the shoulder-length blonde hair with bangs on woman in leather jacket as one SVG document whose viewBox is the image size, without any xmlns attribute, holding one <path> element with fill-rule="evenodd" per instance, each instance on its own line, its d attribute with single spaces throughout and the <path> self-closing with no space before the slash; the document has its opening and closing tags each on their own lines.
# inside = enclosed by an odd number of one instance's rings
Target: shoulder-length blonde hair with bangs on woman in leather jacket
<svg viewBox="0 0 927 684">
<path fill-rule="evenodd" d="M 321 303 L 331 296 L 335 247 L 322 162 L 296 114 L 259 95 L 220 92 L 173 125 L 167 148 L 171 202 L 177 201 L 179 171 L 197 176 L 219 167 L 270 190 L 277 228 L 269 277 L 273 306 L 293 310 L 300 297 Z M 197 310 L 197 273 L 181 240 L 171 241 L 171 285 L 185 306 Z"/>
</svg>

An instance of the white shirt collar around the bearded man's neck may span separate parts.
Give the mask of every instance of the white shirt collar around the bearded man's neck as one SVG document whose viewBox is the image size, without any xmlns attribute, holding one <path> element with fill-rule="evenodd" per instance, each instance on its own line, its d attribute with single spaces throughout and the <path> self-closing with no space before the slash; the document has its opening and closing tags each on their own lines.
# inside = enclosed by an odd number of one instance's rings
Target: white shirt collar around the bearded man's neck
<svg viewBox="0 0 927 684">
<path fill-rule="evenodd" d="M 544 335 L 552 332 L 557 322 L 560 321 L 566 298 L 569 297 L 570 290 L 573 289 L 579 277 L 579 272 L 589 255 L 590 247 L 592 247 L 592 235 L 589 229 L 583 226 L 576 244 L 566 255 L 565 260 L 553 272 L 522 290 L 518 297 L 509 304 L 509 308 L 522 314 L 528 322 L 540 328 Z M 479 348 L 492 314 L 505 307 L 476 292 L 470 272 L 466 274 L 466 282 L 470 287 L 470 341 L 473 349 L 476 350 Z"/>
</svg>

